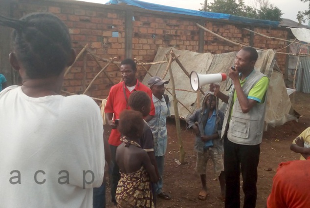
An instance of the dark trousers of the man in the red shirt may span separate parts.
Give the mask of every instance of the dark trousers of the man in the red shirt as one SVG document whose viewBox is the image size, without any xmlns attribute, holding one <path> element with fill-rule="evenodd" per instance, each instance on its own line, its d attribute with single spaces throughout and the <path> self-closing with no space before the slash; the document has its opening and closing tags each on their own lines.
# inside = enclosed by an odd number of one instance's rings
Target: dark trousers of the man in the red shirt
<svg viewBox="0 0 310 208">
<path fill-rule="evenodd" d="M 115 161 L 117 146 L 110 145 L 111 149 L 111 158 L 112 158 L 112 167 L 111 167 L 111 201 L 116 203 L 115 194 L 116 188 L 121 175 L 119 173 L 119 167 Z"/>
</svg>

